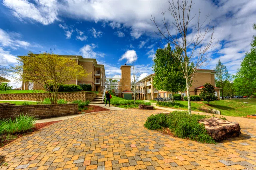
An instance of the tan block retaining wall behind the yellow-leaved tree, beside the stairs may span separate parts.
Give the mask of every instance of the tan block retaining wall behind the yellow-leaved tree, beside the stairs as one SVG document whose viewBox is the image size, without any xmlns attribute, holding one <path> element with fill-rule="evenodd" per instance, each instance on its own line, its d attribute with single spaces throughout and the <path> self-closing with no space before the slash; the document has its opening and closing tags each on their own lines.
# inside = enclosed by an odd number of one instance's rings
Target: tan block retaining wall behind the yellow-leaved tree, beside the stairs
<svg viewBox="0 0 256 170">
<path fill-rule="evenodd" d="M 42 99 L 48 97 L 47 93 L 40 93 Z M 58 99 L 65 99 L 68 102 L 74 100 L 90 100 L 92 101 L 97 96 L 93 92 L 59 92 Z M 0 100 L 36 100 L 34 93 L 12 93 L 12 94 L 0 94 Z"/>
</svg>

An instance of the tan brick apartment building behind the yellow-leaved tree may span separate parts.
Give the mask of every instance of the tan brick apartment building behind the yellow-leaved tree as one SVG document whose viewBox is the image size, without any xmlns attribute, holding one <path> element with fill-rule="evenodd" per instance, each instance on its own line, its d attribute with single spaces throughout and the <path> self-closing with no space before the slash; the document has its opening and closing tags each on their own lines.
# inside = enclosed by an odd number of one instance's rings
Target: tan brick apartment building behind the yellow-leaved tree
<svg viewBox="0 0 256 170">
<path fill-rule="evenodd" d="M 87 77 L 79 80 L 71 80 L 65 82 L 64 84 L 90 84 L 92 86 L 92 91 L 103 91 L 103 77 L 105 77 L 105 69 L 104 65 L 98 64 L 96 59 L 94 58 L 83 58 L 81 55 L 59 55 L 70 57 L 71 59 L 75 59 L 77 64 L 81 65 L 89 74 Z M 22 82 L 21 90 L 31 90 L 32 88 L 38 87 L 36 84 L 30 84 L 29 82 Z"/>
</svg>

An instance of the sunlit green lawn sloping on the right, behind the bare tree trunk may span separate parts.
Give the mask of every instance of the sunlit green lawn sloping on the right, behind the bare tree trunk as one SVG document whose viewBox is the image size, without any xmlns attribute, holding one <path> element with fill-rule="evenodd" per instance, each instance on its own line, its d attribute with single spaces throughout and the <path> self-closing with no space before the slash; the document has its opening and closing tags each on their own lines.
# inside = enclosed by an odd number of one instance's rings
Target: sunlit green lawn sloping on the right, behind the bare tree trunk
<svg viewBox="0 0 256 170">
<path fill-rule="evenodd" d="M 187 101 L 176 101 L 184 105 L 182 108 L 187 110 L 188 102 Z M 248 102 L 249 103 L 249 102 Z M 247 115 L 252 115 L 256 113 L 256 106 L 253 104 L 245 104 L 237 100 L 220 100 L 213 101 L 207 105 L 207 102 L 191 102 L 192 111 L 197 112 L 208 112 L 207 109 L 216 109 L 221 111 L 221 115 L 224 116 L 235 116 L 235 117 L 246 117 Z"/>
</svg>

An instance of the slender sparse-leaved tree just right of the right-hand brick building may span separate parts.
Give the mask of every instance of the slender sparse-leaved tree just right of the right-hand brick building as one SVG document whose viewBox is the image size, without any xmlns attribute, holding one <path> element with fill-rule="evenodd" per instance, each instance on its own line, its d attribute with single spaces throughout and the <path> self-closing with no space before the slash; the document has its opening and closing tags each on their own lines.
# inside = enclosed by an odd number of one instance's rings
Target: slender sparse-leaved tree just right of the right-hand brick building
<svg viewBox="0 0 256 170">
<path fill-rule="evenodd" d="M 223 88 L 225 87 L 225 82 L 226 80 L 230 79 L 230 74 L 228 73 L 228 69 L 225 65 L 222 64 L 222 62 L 218 61 L 218 63 L 216 64 L 216 68 L 215 68 L 216 74 L 215 74 L 215 78 L 218 81 L 218 87 L 221 87 L 221 97 L 222 100 L 224 100 L 223 98 Z"/>
</svg>

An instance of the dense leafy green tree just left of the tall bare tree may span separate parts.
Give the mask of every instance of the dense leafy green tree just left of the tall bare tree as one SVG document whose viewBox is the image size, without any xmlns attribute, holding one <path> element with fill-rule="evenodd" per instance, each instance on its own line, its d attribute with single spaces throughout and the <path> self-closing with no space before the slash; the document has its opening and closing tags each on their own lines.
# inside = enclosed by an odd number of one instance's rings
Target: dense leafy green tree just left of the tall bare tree
<svg viewBox="0 0 256 170">
<path fill-rule="evenodd" d="M 186 88 L 186 79 L 179 68 L 181 64 L 175 56 L 181 53 L 181 49 L 172 50 L 168 43 L 166 48 L 156 50 L 156 57 L 153 59 L 152 68 L 155 72 L 153 85 L 158 90 L 172 92 L 172 102 L 174 102 L 174 93 Z"/>
</svg>

